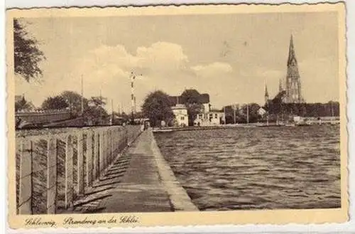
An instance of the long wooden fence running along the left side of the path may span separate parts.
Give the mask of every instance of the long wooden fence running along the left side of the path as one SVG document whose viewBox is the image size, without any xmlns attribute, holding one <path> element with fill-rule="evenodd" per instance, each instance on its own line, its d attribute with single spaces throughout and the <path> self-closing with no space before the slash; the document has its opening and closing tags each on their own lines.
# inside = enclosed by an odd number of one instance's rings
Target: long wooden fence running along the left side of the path
<svg viewBox="0 0 355 234">
<path fill-rule="evenodd" d="M 139 125 L 16 132 L 18 214 L 72 208 L 141 132 Z"/>
</svg>

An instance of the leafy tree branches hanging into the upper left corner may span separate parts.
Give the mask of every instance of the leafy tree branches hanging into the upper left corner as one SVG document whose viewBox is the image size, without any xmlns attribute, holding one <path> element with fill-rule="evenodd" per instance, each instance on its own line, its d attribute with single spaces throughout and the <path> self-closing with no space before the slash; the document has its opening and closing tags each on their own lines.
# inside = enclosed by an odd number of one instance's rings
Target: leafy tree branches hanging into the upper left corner
<svg viewBox="0 0 355 234">
<path fill-rule="evenodd" d="M 17 18 L 13 19 L 14 70 L 25 80 L 39 78 L 42 70 L 39 63 L 45 60 L 38 48 L 38 41 L 31 37 Z"/>
</svg>

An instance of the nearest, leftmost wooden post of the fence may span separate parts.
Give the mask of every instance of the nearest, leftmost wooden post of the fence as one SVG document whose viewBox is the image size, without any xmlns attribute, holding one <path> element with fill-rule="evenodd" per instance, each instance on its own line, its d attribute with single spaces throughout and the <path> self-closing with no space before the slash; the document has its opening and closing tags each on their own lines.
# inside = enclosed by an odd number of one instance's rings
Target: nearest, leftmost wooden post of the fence
<svg viewBox="0 0 355 234">
<path fill-rule="evenodd" d="M 32 142 L 21 142 L 19 214 L 32 214 Z"/>
</svg>

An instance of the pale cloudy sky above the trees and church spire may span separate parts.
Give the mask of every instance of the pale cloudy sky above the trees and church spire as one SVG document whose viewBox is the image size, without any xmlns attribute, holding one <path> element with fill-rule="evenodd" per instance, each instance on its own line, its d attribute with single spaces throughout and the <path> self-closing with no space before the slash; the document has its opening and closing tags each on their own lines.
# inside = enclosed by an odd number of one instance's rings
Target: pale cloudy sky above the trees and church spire
<svg viewBox="0 0 355 234">
<path fill-rule="evenodd" d="M 307 102 L 339 100 L 337 14 L 227 14 L 25 18 L 47 60 L 40 83 L 16 78 L 16 94 L 37 106 L 63 90 L 102 95 L 130 110 L 129 73 L 137 106 L 153 90 L 180 95 L 195 88 L 214 107 L 263 104 L 285 80 L 293 33 L 302 94 Z M 110 110 L 111 105 L 107 109 Z M 138 108 L 139 109 L 139 108 Z"/>
</svg>

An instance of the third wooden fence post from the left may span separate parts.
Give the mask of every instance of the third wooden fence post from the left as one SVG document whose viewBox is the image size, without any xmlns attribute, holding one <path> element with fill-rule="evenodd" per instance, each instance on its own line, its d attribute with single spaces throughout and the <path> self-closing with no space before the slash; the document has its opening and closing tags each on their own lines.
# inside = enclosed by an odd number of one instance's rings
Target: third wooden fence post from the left
<svg viewBox="0 0 355 234">
<path fill-rule="evenodd" d="M 74 167 L 74 159 L 73 159 L 73 144 L 72 144 L 72 136 L 67 136 L 67 144 L 65 150 L 65 208 L 69 208 L 72 206 L 73 201 L 73 167 Z"/>
</svg>

